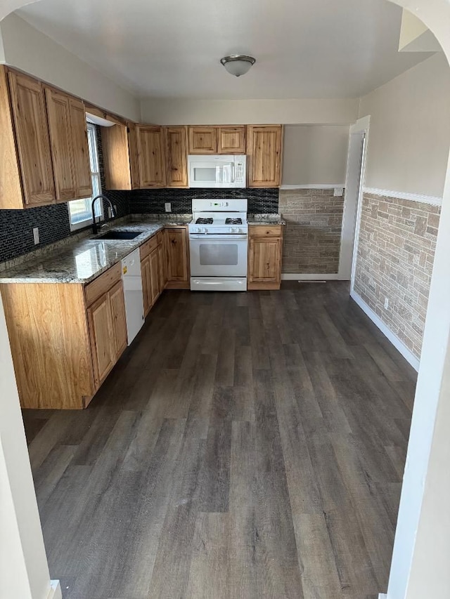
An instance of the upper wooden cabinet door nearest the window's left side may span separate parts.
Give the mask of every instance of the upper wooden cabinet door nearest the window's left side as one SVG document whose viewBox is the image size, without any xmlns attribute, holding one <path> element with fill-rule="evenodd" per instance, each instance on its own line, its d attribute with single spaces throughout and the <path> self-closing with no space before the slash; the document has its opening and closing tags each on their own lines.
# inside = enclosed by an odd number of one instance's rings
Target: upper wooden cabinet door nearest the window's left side
<svg viewBox="0 0 450 599">
<path fill-rule="evenodd" d="M 72 152 L 77 198 L 91 197 L 92 176 L 89 147 L 87 144 L 86 112 L 84 103 L 77 98 L 69 98 L 70 123 L 72 125 Z"/>
</svg>

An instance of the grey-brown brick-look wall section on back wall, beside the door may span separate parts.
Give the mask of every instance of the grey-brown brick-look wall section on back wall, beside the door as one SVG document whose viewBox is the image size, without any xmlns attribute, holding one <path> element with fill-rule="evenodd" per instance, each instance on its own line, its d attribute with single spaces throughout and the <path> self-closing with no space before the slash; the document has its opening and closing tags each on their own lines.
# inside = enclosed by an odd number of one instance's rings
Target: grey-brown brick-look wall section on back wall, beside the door
<svg viewBox="0 0 450 599">
<path fill-rule="evenodd" d="M 333 194 L 333 189 L 280 190 L 284 273 L 338 272 L 344 197 Z"/>
</svg>

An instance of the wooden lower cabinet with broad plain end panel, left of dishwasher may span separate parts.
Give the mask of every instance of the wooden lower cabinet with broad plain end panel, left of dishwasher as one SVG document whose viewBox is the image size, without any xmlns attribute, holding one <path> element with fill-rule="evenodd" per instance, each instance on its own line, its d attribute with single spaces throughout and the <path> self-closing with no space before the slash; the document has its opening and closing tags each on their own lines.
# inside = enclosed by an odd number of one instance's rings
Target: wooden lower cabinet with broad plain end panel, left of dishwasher
<svg viewBox="0 0 450 599">
<path fill-rule="evenodd" d="M 82 409 L 127 347 L 120 264 L 93 282 L 1 284 L 20 404 Z"/>
</svg>

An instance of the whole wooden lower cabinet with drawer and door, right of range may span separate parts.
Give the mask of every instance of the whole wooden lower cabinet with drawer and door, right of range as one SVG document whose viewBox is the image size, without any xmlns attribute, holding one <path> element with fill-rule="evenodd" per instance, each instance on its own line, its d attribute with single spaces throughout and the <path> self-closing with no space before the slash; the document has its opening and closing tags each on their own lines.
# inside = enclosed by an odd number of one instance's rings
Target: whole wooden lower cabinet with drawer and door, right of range
<svg viewBox="0 0 450 599">
<path fill-rule="evenodd" d="M 248 289 L 280 289 L 283 228 L 249 227 Z"/>
</svg>

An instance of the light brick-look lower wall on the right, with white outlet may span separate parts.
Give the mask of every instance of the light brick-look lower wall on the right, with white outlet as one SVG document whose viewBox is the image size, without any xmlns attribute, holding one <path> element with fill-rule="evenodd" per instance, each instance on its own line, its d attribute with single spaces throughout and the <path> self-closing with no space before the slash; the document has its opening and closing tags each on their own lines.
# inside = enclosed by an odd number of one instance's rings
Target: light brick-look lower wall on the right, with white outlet
<svg viewBox="0 0 450 599">
<path fill-rule="evenodd" d="M 364 194 L 361 212 L 354 290 L 418 358 L 440 210 Z"/>
</svg>

